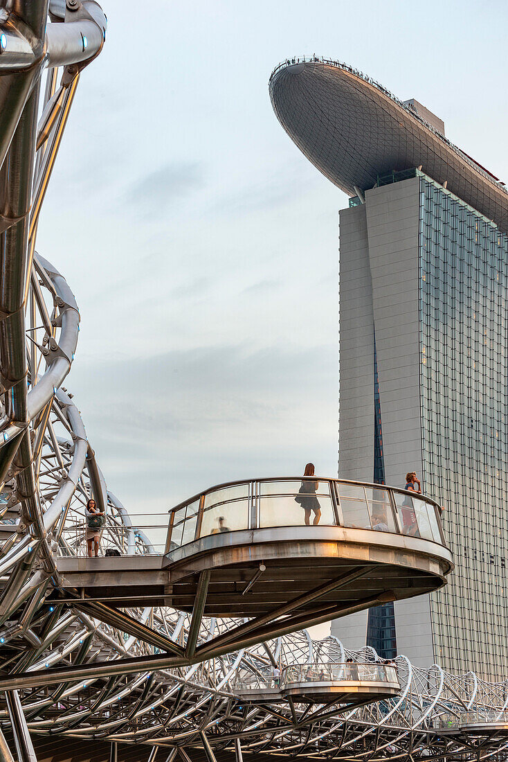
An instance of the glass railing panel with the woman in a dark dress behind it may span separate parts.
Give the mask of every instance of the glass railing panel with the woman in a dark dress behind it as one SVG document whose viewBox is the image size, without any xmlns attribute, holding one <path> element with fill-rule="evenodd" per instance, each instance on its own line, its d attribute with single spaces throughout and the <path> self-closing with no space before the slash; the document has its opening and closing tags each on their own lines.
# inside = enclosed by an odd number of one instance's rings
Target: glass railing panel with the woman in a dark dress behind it
<svg viewBox="0 0 508 762">
<path fill-rule="evenodd" d="M 332 525 L 335 516 L 328 495 L 296 494 L 259 500 L 260 527 L 299 527 L 304 524 Z"/>
</svg>

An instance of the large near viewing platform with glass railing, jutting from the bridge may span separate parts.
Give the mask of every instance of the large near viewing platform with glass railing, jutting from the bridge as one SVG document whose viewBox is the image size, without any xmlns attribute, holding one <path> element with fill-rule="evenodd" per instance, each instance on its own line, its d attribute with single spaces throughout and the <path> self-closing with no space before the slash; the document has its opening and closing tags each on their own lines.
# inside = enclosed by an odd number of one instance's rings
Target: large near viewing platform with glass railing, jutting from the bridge
<svg viewBox="0 0 508 762">
<path fill-rule="evenodd" d="M 453 566 L 434 501 L 341 479 L 218 485 L 174 507 L 166 531 L 161 555 L 59 559 L 62 588 L 250 617 L 241 632 L 259 642 L 435 590 Z"/>
</svg>

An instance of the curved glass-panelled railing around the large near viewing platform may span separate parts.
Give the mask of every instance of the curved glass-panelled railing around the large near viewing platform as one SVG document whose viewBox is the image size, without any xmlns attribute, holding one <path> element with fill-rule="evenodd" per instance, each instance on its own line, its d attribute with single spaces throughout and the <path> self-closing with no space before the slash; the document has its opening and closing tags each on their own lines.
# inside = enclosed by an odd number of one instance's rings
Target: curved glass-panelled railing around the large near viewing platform
<svg viewBox="0 0 508 762">
<path fill-rule="evenodd" d="M 305 524 L 374 530 L 446 545 L 439 505 L 385 485 L 320 477 L 230 482 L 172 508 L 166 552 L 201 537 Z"/>
</svg>

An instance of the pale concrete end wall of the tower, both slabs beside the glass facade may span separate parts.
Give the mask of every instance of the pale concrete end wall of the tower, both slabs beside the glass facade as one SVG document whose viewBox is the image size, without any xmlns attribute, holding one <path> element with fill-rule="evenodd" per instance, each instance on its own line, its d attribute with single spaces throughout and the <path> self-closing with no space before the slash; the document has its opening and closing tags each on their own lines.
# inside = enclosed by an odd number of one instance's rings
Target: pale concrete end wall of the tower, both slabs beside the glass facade
<svg viewBox="0 0 508 762">
<path fill-rule="evenodd" d="M 422 471 L 420 424 L 420 178 L 372 188 L 366 203 L 340 213 L 339 476 L 374 474 L 374 331 L 385 481 Z M 428 596 L 395 604 L 397 650 L 417 666 L 434 661 Z M 366 643 L 367 612 L 331 632 Z"/>
</svg>

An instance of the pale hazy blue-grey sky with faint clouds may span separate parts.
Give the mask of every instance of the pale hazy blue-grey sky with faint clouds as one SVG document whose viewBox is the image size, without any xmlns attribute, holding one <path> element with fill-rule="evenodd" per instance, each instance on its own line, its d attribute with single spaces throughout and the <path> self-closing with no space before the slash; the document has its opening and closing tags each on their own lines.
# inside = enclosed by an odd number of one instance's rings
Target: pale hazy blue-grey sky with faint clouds
<svg viewBox="0 0 508 762">
<path fill-rule="evenodd" d="M 80 306 L 66 386 L 128 509 L 308 460 L 337 474 L 347 198 L 277 122 L 274 66 L 350 63 L 508 181 L 506 7 L 104 0 L 37 248 Z"/>
</svg>

